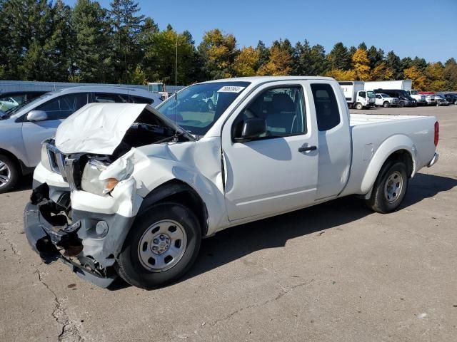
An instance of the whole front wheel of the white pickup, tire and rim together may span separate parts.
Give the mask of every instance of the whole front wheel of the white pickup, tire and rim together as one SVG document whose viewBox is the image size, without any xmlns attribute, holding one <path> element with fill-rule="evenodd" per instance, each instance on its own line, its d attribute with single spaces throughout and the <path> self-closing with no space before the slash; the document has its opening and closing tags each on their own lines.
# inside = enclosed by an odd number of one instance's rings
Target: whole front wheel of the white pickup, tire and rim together
<svg viewBox="0 0 457 342">
<path fill-rule="evenodd" d="M 199 220 L 189 208 L 172 202 L 157 204 L 131 227 L 116 270 L 133 286 L 164 286 L 189 270 L 200 243 Z"/>
</svg>

